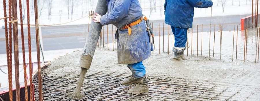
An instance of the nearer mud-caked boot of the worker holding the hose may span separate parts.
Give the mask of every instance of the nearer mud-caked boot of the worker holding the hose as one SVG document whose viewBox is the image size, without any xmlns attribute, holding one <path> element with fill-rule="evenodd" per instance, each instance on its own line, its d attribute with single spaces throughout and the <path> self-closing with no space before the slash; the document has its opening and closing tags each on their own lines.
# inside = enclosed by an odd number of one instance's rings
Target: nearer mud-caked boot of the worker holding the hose
<svg viewBox="0 0 260 101">
<path fill-rule="evenodd" d="M 129 89 L 128 93 L 140 94 L 140 93 L 148 93 L 149 92 L 149 87 L 148 87 L 146 75 L 144 75 L 141 79 L 138 79 L 137 82 L 138 82 L 138 84 L 133 89 Z"/>
</svg>

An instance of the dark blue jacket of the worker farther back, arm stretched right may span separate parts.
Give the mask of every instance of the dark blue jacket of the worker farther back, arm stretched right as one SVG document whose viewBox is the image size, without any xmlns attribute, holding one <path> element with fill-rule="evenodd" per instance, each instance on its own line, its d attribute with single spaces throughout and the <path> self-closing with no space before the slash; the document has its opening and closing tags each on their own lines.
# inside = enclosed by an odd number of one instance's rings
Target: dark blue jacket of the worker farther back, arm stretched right
<svg viewBox="0 0 260 101">
<path fill-rule="evenodd" d="M 208 8 L 213 5 L 208 0 L 165 0 L 165 23 L 174 27 L 191 28 L 194 7 Z"/>
</svg>

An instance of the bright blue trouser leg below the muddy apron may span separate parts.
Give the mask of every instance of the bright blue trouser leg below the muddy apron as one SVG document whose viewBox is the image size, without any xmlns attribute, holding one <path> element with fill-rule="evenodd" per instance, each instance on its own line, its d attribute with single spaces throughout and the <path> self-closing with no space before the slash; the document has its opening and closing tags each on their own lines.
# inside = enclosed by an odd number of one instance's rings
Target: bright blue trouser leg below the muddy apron
<svg viewBox="0 0 260 101">
<path fill-rule="evenodd" d="M 145 67 L 143 61 L 133 64 L 128 64 L 127 66 L 130 67 L 131 72 L 133 73 L 133 77 L 135 79 L 142 78 L 145 74 Z"/>
</svg>

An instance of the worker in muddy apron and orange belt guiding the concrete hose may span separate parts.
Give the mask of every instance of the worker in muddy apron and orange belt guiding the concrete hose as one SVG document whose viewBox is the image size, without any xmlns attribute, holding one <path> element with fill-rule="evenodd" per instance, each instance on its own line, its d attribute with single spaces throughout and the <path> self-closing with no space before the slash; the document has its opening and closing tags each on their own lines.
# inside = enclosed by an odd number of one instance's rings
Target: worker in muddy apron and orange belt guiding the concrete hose
<svg viewBox="0 0 260 101">
<path fill-rule="evenodd" d="M 101 25 L 113 24 L 118 29 L 118 64 L 127 64 L 132 76 L 121 82 L 122 85 L 138 83 L 128 93 L 148 93 L 147 77 L 142 61 L 150 57 L 151 41 L 146 31 L 142 8 L 138 0 L 107 0 L 108 13 L 101 16 L 95 14 L 94 22 Z"/>
</svg>

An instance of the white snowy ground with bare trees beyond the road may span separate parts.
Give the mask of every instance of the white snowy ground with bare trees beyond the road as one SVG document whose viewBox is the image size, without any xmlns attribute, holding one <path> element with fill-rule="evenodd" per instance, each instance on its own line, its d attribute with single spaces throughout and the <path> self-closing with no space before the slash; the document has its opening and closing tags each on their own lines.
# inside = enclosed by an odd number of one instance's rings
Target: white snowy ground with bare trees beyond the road
<svg viewBox="0 0 260 101">
<path fill-rule="evenodd" d="M 25 0 L 22 0 L 25 2 Z M 38 0 L 39 7 L 42 7 L 43 0 Z M 94 10 L 97 0 L 74 0 L 74 10 L 73 10 L 73 16 L 72 20 L 81 18 L 81 16 L 86 16 L 89 14 L 90 10 Z M 150 2 L 151 1 L 151 2 Z M 34 23 L 34 15 L 32 13 L 33 9 L 31 6 L 31 0 L 30 0 L 30 22 Z M 163 20 L 164 19 L 164 7 L 156 7 L 156 8 L 149 8 L 153 6 L 159 6 L 164 5 L 164 0 L 139 0 L 142 8 L 148 8 L 143 9 L 143 15 L 148 16 L 150 20 Z M 230 15 L 245 15 L 245 14 L 252 14 L 252 1 L 251 0 L 226 0 L 225 6 L 224 6 L 224 12 L 222 12 L 222 6 L 220 0 L 214 0 L 213 1 L 213 7 L 212 7 L 212 16 L 230 16 Z M 219 3 L 218 3 L 219 2 Z M 233 2 L 233 4 L 232 4 Z M 240 4 L 239 4 L 240 2 Z M 48 24 L 57 24 L 57 23 L 65 23 L 68 21 L 71 21 L 71 10 L 69 9 L 69 16 L 68 16 L 68 9 L 66 8 L 66 2 L 64 0 L 53 0 L 52 2 L 52 9 L 51 9 L 51 18 L 49 20 L 48 18 L 48 8 L 47 8 L 47 1 L 45 1 L 42 13 L 40 16 L 40 24 L 48 25 Z M 72 6 L 70 5 L 70 8 Z M 255 5 L 254 5 L 255 7 Z M 24 9 L 24 8 L 23 8 Z M 151 12 L 152 10 L 152 12 Z M 0 3 L 0 12 L 3 12 L 3 3 Z M 61 13 L 60 13 L 61 12 Z M 255 12 L 255 10 L 254 10 Z M 260 12 L 260 10 L 259 10 Z M 19 13 L 19 12 L 18 12 Z M 210 17 L 211 8 L 195 8 L 194 10 L 194 18 L 198 17 Z M 60 16 L 61 14 L 61 16 Z M 151 15 L 150 15 L 151 14 Z M 27 16 L 26 16 L 26 10 L 25 10 L 25 21 L 24 23 L 27 23 Z M 0 13 L 0 16 L 3 16 L 3 13 Z M 60 19 L 61 17 L 61 19 Z M 18 14 L 18 18 L 19 14 Z M 80 20 L 77 20 L 72 23 L 68 23 L 65 25 L 80 25 L 80 24 L 87 24 L 88 23 L 88 17 L 82 18 Z M 4 20 L 0 20 L 0 25 L 4 25 Z"/>
</svg>

